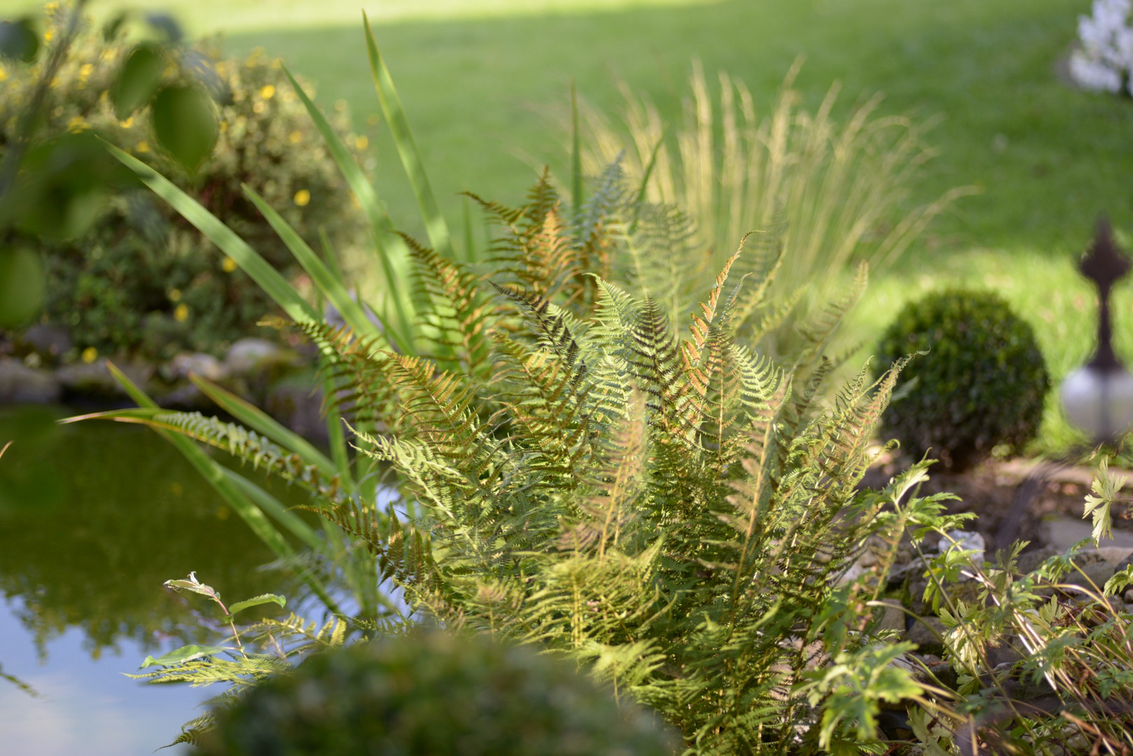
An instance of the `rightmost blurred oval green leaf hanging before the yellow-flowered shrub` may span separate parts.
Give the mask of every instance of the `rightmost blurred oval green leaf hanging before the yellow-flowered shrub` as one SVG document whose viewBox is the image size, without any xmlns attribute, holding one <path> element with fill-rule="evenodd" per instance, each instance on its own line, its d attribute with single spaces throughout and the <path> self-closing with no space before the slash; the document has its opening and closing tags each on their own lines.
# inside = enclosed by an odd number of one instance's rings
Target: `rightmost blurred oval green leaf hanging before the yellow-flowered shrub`
<svg viewBox="0 0 1133 756">
<path fill-rule="evenodd" d="M 186 84 L 164 86 L 150 110 L 153 136 L 177 162 L 194 172 L 212 154 L 220 127 L 207 94 Z"/>
</svg>

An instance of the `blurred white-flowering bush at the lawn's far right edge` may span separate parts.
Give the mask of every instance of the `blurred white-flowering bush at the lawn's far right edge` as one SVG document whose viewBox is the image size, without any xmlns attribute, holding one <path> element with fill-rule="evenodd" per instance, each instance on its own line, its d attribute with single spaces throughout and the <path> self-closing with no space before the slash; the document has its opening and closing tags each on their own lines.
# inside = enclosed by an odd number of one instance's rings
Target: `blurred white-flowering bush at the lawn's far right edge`
<svg viewBox="0 0 1133 756">
<path fill-rule="evenodd" d="M 1083 90 L 1133 96 L 1133 26 L 1130 0 L 1093 0 L 1093 15 L 1080 16 L 1082 46 L 1070 59 L 1070 75 Z"/>
</svg>

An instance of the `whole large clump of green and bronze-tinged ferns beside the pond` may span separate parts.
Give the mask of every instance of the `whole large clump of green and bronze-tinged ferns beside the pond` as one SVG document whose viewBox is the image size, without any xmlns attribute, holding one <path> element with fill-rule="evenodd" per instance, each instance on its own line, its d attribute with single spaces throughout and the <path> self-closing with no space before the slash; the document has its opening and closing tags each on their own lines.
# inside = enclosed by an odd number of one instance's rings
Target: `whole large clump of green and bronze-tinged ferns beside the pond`
<svg viewBox="0 0 1133 756">
<path fill-rule="evenodd" d="M 645 212 L 616 165 L 604 181 L 579 211 L 545 178 L 525 207 L 482 203 L 501 229 L 491 270 L 410 243 L 421 354 L 301 324 L 329 401 L 398 496 L 296 482 L 377 557 L 412 617 L 569 655 L 693 753 L 829 748 L 854 728 L 868 740 L 879 702 L 920 690 L 904 672 L 802 687 L 824 638 L 827 661 L 887 659 L 864 632 L 884 575 L 840 577 L 867 537 L 895 547 L 908 521 L 883 516 L 901 496 L 858 490 L 896 371 L 870 383 L 863 368 L 820 400 L 864 269 L 776 364 L 757 347 L 782 318 L 768 294 L 782 255 L 741 248 L 681 339 L 699 254 L 684 221 Z M 237 435 L 197 438 L 259 452 Z M 840 697 L 858 708 L 800 724 Z"/>
</svg>

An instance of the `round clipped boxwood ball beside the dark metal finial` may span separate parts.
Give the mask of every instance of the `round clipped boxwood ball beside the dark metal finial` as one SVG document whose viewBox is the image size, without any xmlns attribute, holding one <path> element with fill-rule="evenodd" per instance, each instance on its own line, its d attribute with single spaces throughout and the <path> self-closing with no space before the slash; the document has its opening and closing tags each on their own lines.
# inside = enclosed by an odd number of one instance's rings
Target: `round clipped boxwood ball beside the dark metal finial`
<svg viewBox="0 0 1133 756">
<path fill-rule="evenodd" d="M 888 367 L 917 351 L 928 354 L 905 366 L 881 422 L 906 452 L 961 472 L 1034 438 L 1050 379 L 1031 326 L 997 295 L 947 289 L 906 305 L 878 356 Z"/>
</svg>

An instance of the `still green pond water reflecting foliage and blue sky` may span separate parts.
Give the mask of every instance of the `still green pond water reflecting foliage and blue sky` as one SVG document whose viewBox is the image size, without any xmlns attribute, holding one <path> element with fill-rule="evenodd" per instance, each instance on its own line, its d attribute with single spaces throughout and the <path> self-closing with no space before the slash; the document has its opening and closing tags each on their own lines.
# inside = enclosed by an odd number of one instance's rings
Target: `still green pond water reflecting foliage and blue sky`
<svg viewBox="0 0 1133 756">
<path fill-rule="evenodd" d="M 155 433 L 54 423 L 69 414 L 0 406 L 0 447 L 14 441 L 0 458 L 0 754 L 146 754 L 220 693 L 123 676 L 147 654 L 213 637 L 196 621 L 196 597 L 162 583 L 195 570 L 225 600 L 287 584 Z M 271 490 L 287 500 L 281 485 Z"/>
</svg>

